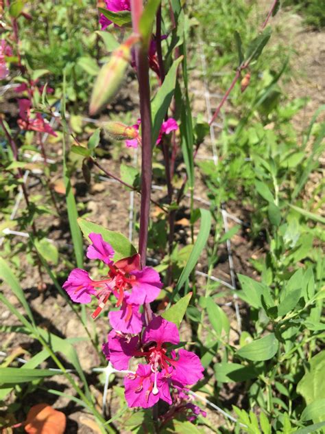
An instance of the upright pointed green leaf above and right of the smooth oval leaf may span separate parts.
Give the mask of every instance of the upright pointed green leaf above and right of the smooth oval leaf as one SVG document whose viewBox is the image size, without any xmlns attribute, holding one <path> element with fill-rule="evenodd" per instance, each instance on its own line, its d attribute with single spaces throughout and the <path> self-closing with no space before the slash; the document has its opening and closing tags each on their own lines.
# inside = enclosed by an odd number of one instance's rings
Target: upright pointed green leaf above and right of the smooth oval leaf
<svg viewBox="0 0 325 434">
<path fill-rule="evenodd" d="M 280 301 L 278 305 L 278 316 L 283 317 L 290 310 L 293 310 L 301 295 L 303 283 L 302 269 L 299 269 L 294 273 L 285 288 L 280 292 Z"/>
</svg>

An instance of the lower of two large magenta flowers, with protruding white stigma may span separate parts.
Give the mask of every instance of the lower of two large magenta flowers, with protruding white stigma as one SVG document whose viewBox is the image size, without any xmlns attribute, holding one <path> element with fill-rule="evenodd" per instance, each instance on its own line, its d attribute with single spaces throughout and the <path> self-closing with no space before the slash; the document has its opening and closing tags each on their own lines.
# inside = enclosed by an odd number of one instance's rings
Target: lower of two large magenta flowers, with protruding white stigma
<svg viewBox="0 0 325 434">
<path fill-rule="evenodd" d="M 193 385 L 203 377 L 200 358 L 186 350 L 168 350 L 167 343 L 180 343 L 174 323 L 155 317 L 147 325 L 141 338 L 110 332 L 103 351 L 115 369 L 128 369 L 130 358 L 143 357 L 134 374 L 125 380 L 125 398 L 129 407 L 152 407 L 159 398 L 171 404 L 169 386 L 182 388 Z"/>
</svg>

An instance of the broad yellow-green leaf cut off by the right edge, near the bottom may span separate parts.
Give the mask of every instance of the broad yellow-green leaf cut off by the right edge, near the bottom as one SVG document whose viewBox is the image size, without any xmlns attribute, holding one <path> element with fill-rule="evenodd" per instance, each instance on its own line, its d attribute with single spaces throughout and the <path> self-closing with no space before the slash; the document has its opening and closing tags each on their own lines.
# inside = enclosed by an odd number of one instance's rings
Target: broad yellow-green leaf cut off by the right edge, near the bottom
<svg viewBox="0 0 325 434">
<path fill-rule="evenodd" d="M 297 385 L 297 393 L 304 397 L 309 405 L 325 397 L 325 350 L 313 356 L 309 361 L 309 370 Z"/>
</svg>

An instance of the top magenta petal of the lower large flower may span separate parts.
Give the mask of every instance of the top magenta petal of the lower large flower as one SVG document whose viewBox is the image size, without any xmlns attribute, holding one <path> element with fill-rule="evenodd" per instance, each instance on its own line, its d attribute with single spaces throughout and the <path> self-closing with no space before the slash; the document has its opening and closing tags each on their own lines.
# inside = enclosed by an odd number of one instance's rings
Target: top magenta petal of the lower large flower
<svg viewBox="0 0 325 434">
<path fill-rule="evenodd" d="M 143 343 L 156 342 L 163 345 L 165 342 L 178 344 L 180 342 L 180 334 L 174 323 L 166 321 L 162 317 L 156 317 L 149 322 L 143 332 Z"/>
</svg>

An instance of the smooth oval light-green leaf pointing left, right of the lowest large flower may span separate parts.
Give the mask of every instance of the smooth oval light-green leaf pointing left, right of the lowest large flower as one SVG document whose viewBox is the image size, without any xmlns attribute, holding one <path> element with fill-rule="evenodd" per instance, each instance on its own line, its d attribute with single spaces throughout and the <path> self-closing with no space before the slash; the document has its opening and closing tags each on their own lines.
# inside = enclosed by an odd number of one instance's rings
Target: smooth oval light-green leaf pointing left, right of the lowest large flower
<svg viewBox="0 0 325 434">
<path fill-rule="evenodd" d="M 278 345 L 279 343 L 275 334 L 270 333 L 240 348 L 236 352 L 236 355 L 251 361 L 265 361 L 276 355 Z"/>
</svg>

